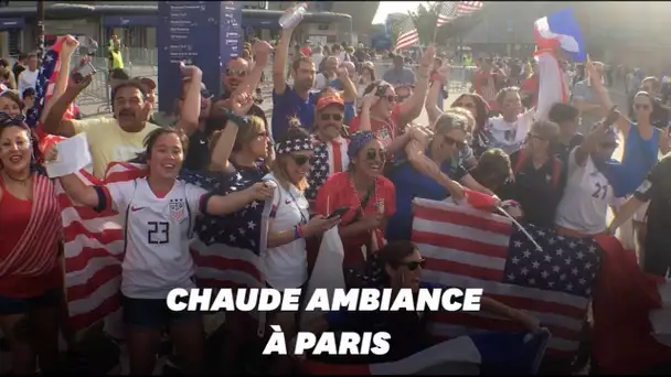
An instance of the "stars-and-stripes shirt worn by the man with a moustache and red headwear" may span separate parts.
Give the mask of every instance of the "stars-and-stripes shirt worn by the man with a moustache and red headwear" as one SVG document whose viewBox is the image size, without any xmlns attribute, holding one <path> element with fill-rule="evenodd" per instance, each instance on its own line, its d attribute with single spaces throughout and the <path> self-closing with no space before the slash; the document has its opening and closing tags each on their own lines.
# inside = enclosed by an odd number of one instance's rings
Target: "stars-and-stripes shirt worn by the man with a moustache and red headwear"
<svg viewBox="0 0 671 377">
<path fill-rule="evenodd" d="M 319 187 L 329 176 L 347 170 L 349 161 L 347 140 L 339 138 L 338 140 L 316 144 L 315 154 L 312 154 L 310 161 L 311 168 L 308 174 L 310 187 L 306 190 L 306 198 L 308 201 L 317 198 Z"/>
</svg>

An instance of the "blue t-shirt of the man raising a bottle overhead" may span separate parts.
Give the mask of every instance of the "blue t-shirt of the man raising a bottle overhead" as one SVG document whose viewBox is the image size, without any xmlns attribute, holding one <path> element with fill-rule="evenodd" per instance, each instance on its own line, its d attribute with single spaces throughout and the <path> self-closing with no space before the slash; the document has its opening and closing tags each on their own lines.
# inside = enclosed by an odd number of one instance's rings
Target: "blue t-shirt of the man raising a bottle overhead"
<svg viewBox="0 0 671 377">
<path fill-rule="evenodd" d="M 273 140 L 289 129 L 289 119 L 296 117 L 306 130 L 315 126 L 315 104 L 317 93 L 310 93 L 308 99 L 302 99 L 292 87 L 287 88 L 281 95 L 273 90 Z"/>
</svg>

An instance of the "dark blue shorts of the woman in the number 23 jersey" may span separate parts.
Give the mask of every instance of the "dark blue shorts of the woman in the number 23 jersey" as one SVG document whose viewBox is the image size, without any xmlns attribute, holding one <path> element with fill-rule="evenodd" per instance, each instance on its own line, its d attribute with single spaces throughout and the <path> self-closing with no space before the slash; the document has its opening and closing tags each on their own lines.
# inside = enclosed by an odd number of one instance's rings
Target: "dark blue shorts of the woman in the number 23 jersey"
<svg viewBox="0 0 671 377">
<path fill-rule="evenodd" d="M 184 299 L 185 300 L 185 299 Z M 124 324 L 134 330 L 162 330 L 174 323 L 200 321 L 199 312 L 173 312 L 164 299 L 121 298 Z"/>
</svg>

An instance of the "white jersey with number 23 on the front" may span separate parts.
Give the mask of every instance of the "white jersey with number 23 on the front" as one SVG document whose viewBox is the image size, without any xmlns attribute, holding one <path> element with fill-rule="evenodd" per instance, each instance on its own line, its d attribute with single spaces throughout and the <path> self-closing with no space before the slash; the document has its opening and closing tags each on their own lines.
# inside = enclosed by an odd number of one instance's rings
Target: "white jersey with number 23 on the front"
<svg viewBox="0 0 671 377">
<path fill-rule="evenodd" d="M 194 288 L 189 240 L 203 188 L 175 181 L 162 198 L 146 179 L 106 185 L 126 224 L 121 292 L 132 299 L 166 299 L 174 288 Z"/>
</svg>

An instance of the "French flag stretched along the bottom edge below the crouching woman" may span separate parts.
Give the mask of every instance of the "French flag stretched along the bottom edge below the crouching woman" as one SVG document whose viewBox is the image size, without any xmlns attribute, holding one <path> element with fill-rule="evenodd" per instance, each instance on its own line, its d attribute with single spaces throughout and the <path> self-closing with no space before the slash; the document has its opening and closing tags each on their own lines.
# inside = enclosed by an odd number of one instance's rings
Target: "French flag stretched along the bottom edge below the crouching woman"
<svg viewBox="0 0 671 377">
<path fill-rule="evenodd" d="M 550 340 L 537 334 L 480 333 L 445 341 L 408 357 L 377 364 L 305 360 L 305 375 L 535 375 Z"/>
</svg>

